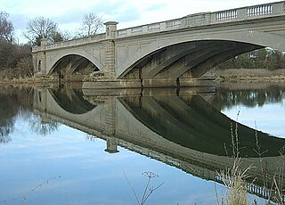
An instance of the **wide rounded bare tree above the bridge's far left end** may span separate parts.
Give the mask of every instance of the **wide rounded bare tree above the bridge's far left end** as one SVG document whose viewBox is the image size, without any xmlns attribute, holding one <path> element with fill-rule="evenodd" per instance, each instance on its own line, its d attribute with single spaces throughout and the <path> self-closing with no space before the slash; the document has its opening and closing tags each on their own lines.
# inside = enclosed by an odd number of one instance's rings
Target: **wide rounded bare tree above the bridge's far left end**
<svg viewBox="0 0 285 205">
<path fill-rule="evenodd" d="M 57 23 L 43 16 L 28 21 L 26 29 L 24 36 L 28 38 L 30 45 L 40 45 L 41 38 L 54 43 L 54 34 L 59 33 Z"/>
</svg>

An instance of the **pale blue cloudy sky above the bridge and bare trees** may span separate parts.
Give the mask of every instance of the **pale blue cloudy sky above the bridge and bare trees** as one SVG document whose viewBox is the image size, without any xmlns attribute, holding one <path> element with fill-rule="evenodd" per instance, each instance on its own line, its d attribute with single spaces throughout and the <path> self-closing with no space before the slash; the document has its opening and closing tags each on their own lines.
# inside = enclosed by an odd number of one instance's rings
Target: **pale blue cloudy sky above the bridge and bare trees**
<svg viewBox="0 0 285 205">
<path fill-rule="evenodd" d="M 62 31 L 80 28 L 85 13 L 94 12 L 104 21 L 118 21 L 118 29 L 181 18 L 197 12 L 217 12 L 278 0 L 0 0 L 8 12 L 15 35 L 24 41 L 27 22 L 44 16 Z"/>
</svg>

